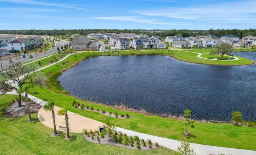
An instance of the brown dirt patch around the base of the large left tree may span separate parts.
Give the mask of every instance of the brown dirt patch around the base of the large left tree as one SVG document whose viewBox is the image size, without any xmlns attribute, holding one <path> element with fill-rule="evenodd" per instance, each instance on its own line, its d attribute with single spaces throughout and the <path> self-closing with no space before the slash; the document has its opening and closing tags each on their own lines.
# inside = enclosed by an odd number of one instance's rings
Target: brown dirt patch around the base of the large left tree
<svg viewBox="0 0 256 155">
<path fill-rule="evenodd" d="M 4 109 L 3 115 L 5 117 L 21 117 L 28 115 L 26 102 L 21 102 L 21 107 L 18 106 L 18 101 L 13 102 L 10 106 Z M 42 106 L 36 102 L 30 102 L 29 110 L 30 114 L 37 113 Z"/>
</svg>

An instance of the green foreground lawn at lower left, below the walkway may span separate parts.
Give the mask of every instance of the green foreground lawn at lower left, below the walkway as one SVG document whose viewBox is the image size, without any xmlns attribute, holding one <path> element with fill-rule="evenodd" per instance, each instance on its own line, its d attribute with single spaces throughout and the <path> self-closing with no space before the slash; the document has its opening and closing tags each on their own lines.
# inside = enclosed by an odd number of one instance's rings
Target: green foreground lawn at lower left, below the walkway
<svg viewBox="0 0 256 155">
<path fill-rule="evenodd" d="M 65 132 L 60 131 L 57 137 L 50 137 L 53 129 L 44 126 L 32 114 L 36 121 L 28 123 L 28 116 L 6 118 L 2 111 L 15 100 L 16 95 L 0 96 L 0 154 L 1 155 L 148 155 L 148 154 L 178 154 L 165 147 L 153 151 L 137 151 L 114 145 L 95 144 L 86 141 L 82 133 L 70 133 L 72 139 L 65 140 Z"/>
</svg>

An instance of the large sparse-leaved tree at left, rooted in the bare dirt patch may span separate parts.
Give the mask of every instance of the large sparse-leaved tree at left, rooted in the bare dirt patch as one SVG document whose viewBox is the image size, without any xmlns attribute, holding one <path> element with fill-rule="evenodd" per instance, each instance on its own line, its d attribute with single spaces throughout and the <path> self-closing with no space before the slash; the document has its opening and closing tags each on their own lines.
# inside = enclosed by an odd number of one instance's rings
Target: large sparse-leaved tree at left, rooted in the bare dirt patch
<svg viewBox="0 0 256 155">
<path fill-rule="evenodd" d="M 32 63 L 27 65 L 22 65 L 22 63 L 11 62 L 8 67 L 1 70 L 0 74 L 0 88 L 3 89 L 1 94 L 6 94 L 9 89 L 18 90 L 26 83 L 33 82 L 36 85 L 43 84 L 43 76 L 39 73 L 35 73 L 38 67 Z M 9 80 L 9 82 L 8 82 Z M 10 83 L 15 83 L 16 85 L 11 85 Z M 22 91 L 18 91 L 19 100 L 18 106 L 21 106 L 21 94 Z"/>
</svg>

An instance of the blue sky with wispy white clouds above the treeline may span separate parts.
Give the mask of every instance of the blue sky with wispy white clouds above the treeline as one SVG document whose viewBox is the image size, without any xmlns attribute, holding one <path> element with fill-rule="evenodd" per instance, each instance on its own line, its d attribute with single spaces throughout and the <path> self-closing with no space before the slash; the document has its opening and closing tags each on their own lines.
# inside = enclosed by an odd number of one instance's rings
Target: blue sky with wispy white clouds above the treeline
<svg viewBox="0 0 256 155">
<path fill-rule="evenodd" d="M 256 0 L 0 0 L 3 29 L 256 29 Z"/>
</svg>

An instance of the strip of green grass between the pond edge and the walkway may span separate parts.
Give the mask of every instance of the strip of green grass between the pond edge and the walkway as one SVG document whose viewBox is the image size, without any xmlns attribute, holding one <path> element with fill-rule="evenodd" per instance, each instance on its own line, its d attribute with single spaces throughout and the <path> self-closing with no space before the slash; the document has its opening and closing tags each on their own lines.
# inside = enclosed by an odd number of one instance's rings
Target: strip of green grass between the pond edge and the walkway
<svg viewBox="0 0 256 155">
<path fill-rule="evenodd" d="M 120 53 L 122 53 L 122 55 L 131 55 L 131 53 L 134 53 L 135 55 L 135 51 L 122 51 Z M 111 55 L 120 55 L 120 53 L 111 53 Z M 141 51 L 138 51 L 138 54 L 145 53 L 146 52 L 142 53 Z M 148 55 L 167 55 L 168 51 L 147 51 L 147 53 Z M 71 68 L 72 66 L 74 66 L 74 63 L 78 63 L 79 61 L 82 61 L 82 59 L 109 54 L 110 53 L 104 54 L 102 52 L 77 53 L 77 57 L 70 56 L 66 59 L 70 61 L 70 63 L 67 63 L 66 65 L 61 65 L 62 62 L 59 62 L 56 65 L 53 65 L 52 67 L 43 69 L 43 73 L 44 75 L 48 75 L 49 73 L 61 72 Z M 71 112 L 80 114 L 82 116 L 100 122 L 105 122 L 105 115 L 97 112 L 83 111 L 74 108 L 73 106 L 71 106 L 73 100 L 75 100 L 76 102 L 80 102 L 81 104 L 84 103 L 85 105 L 93 106 L 94 109 L 98 108 L 100 110 L 106 110 L 106 112 L 117 112 L 118 114 L 129 114 L 130 116 L 132 116 L 132 118 L 130 119 L 122 120 L 112 117 L 109 118 L 110 121 L 112 121 L 115 124 L 115 126 L 118 126 L 120 128 L 126 128 L 133 131 L 138 131 L 146 134 L 166 137 L 175 140 L 188 141 L 191 143 L 256 150 L 256 146 L 252 144 L 252 141 L 248 140 L 256 138 L 256 128 L 249 128 L 246 126 L 236 127 L 232 124 L 206 124 L 196 122 L 196 128 L 189 129 L 189 132 L 192 133 L 192 136 L 185 137 L 184 135 L 182 135 L 182 132 L 185 131 L 185 126 L 182 125 L 182 123 L 178 120 L 162 118 L 160 116 L 147 116 L 123 110 L 116 110 L 111 106 L 87 102 L 84 100 L 80 100 L 79 98 L 76 98 L 74 96 L 55 93 L 45 87 L 43 87 L 42 90 L 40 88 L 35 88 L 35 91 L 38 92 L 38 94 L 35 94 L 34 96 L 42 100 L 53 101 L 56 106 L 66 106 L 68 110 Z M 59 100 L 60 98 L 62 98 L 62 101 Z"/>
</svg>

